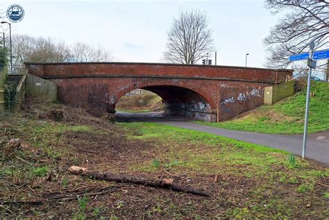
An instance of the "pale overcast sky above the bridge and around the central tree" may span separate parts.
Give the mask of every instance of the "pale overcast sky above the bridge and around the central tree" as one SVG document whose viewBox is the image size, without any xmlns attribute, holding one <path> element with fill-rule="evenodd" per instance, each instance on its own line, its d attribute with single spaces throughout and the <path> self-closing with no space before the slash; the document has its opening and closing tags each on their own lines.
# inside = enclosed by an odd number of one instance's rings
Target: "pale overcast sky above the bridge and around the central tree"
<svg viewBox="0 0 329 220">
<path fill-rule="evenodd" d="M 207 13 L 214 30 L 217 65 L 244 66 L 245 55 L 250 53 L 248 66 L 264 67 L 267 55 L 262 40 L 279 19 L 261 0 L 1 0 L 0 9 L 14 3 L 24 8 L 25 16 L 12 24 L 12 34 L 100 45 L 121 62 L 161 62 L 173 17 L 180 10 L 198 9 Z"/>
</svg>

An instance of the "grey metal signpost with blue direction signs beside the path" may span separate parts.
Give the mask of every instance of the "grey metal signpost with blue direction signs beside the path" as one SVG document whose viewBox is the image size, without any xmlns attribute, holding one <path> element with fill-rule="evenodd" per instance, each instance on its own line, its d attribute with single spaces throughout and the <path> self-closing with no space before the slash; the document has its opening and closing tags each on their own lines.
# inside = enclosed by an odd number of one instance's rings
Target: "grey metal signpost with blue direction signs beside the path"
<svg viewBox="0 0 329 220">
<path fill-rule="evenodd" d="M 300 53 L 300 54 L 294 54 L 292 56 L 289 56 L 289 61 L 292 61 L 292 62 L 300 61 L 300 60 L 307 60 L 307 66 L 308 66 L 302 158 L 305 158 L 305 151 L 306 151 L 307 120 L 308 120 L 308 110 L 310 107 L 311 75 L 312 75 L 312 69 L 315 69 L 315 67 L 316 67 L 316 61 L 314 61 L 314 60 L 329 59 L 329 49 L 323 50 L 323 51 L 314 51 L 314 52 L 313 52 L 313 49 L 314 49 L 314 42 L 312 41 L 310 43 L 310 53 Z"/>
</svg>

